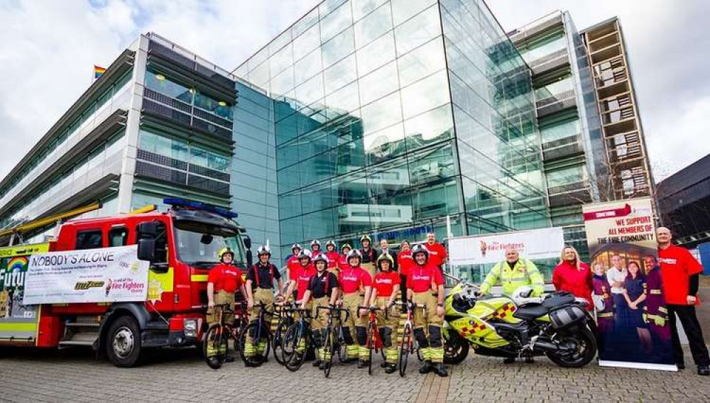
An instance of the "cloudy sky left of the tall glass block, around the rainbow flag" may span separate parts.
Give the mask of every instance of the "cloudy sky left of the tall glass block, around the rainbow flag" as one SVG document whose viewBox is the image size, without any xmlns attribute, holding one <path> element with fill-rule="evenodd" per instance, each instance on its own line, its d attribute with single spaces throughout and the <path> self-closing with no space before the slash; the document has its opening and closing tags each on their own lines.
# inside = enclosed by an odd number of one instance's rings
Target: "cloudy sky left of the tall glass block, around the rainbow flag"
<svg viewBox="0 0 710 403">
<path fill-rule="evenodd" d="M 317 1 L 25 0 L 0 3 L 4 177 L 141 33 L 153 31 L 233 70 Z"/>
</svg>

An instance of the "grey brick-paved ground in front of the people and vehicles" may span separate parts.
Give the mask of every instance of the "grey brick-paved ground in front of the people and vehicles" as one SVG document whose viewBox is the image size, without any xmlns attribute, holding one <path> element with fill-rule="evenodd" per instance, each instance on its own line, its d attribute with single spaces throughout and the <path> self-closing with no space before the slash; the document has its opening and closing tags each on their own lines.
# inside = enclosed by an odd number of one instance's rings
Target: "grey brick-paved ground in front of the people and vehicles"
<svg viewBox="0 0 710 403">
<path fill-rule="evenodd" d="M 692 363 L 688 357 L 687 362 Z M 503 365 L 469 357 L 452 376 L 422 377 L 410 362 L 406 377 L 368 376 L 337 365 L 330 379 L 310 363 L 289 372 L 277 363 L 244 368 L 241 362 L 210 370 L 194 350 L 156 351 L 140 368 L 114 368 L 87 350 L 26 350 L 0 359 L 0 401 L 8 402 L 709 402 L 710 379 L 682 372 Z M 236 398 L 236 399 L 235 399 Z"/>
</svg>

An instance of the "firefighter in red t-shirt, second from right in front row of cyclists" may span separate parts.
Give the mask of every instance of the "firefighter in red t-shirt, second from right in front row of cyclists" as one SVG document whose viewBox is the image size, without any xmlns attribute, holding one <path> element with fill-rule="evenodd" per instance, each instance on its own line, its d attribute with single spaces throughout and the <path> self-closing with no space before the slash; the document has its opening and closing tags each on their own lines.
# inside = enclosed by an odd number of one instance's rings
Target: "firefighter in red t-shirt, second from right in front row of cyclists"
<svg viewBox="0 0 710 403">
<path fill-rule="evenodd" d="M 391 374 L 397 370 L 397 346 L 393 343 L 392 335 L 397 331 L 399 314 L 392 309 L 400 289 L 400 277 L 394 269 L 394 259 L 388 253 L 383 253 L 377 258 L 377 270 L 373 280 L 371 307 L 379 307 L 377 324 L 385 347 L 385 372 Z M 385 315 L 387 311 L 387 315 Z"/>
</svg>

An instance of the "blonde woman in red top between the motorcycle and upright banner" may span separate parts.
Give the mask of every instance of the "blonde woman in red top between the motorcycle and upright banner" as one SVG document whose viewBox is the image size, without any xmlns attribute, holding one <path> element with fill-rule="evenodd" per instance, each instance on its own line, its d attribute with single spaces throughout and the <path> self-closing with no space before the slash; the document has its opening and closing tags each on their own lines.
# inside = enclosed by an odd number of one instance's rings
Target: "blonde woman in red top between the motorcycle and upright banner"
<svg viewBox="0 0 710 403">
<path fill-rule="evenodd" d="M 552 284 L 555 285 L 555 291 L 566 291 L 574 297 L 586 299 L 589 302 L 586 309 L 594 309 L 591 300 L 591 290 L 594 289 L 591 270 L 589 265 L 579 260 L 579 253 L 572 246 L 562 249 L 559 263 L 552 272 Z"/>
</svg>

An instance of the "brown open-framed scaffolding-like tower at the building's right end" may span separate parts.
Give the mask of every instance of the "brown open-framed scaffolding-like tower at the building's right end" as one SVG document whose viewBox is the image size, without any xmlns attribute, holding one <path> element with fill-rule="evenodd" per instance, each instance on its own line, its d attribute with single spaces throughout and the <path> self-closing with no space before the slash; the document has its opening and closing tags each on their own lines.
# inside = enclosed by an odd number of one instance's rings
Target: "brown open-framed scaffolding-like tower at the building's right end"
<svg viewBox="0 0 710 403">
<path fill-rule="evenodd" d="M 581 37 L 594 78 L 614 199 L 648 196 L 653 182 L 618 18 L 586 28 Z"/>
</svg>

